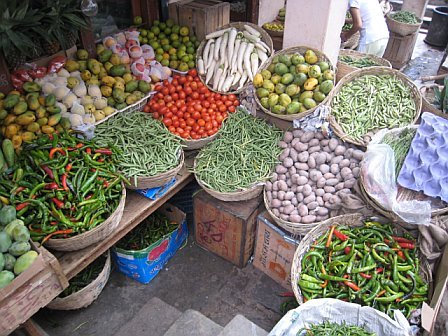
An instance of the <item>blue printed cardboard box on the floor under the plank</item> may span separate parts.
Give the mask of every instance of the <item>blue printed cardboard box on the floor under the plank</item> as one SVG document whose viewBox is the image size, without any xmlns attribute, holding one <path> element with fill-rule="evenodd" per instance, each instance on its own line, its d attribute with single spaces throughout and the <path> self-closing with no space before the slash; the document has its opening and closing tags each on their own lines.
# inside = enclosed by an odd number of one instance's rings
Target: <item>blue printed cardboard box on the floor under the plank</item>
<svg viewBox="0 0 448 336">
<path fill-rule="evenodd" d="M 162 212 L 170 221 L 179 223 L 179 227 L 142 250 L 112 249 L 112 256 L 120 272 L 144 284 L 155 278 L 188 237 L 185 213 L 169 204 L 162 205 L 157 211 Z"/>
</svg>

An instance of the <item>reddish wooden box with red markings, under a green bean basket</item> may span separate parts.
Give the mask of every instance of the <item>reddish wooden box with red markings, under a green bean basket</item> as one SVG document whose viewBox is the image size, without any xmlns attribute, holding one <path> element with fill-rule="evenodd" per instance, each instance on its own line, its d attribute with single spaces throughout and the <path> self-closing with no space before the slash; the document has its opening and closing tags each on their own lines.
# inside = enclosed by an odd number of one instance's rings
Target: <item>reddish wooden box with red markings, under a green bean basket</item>
<svg viewBox="0 0 448 336">
<path fill-rule="evenodd" d="M 195 239 L 199 246 L 244 267 L 252 255 L 261 197 L 223 202 L 201 190 L 193 198 Z"/>
</svg>

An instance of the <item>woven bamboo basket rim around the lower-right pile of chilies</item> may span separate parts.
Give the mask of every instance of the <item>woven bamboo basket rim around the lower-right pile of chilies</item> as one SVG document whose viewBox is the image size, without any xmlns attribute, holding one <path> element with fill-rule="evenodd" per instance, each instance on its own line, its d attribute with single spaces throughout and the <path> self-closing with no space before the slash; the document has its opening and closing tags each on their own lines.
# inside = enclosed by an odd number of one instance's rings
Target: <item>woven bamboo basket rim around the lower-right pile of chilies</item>
<svg viewBox="0 0 448 336">
<path fill-rule="evenodd" d="M 291 266 L 291 285 L 294 292 L 294 296 L 296 297 L 299 305 L 303 303 L 302 291 L 298 286 L 298 281 L 300 280 L 300 275 L 302 273 L 302 258 L 308 252 L 310 246 L 331 226 L 333 225 L 335 226 L 345 225 L 351 227 L 364 226 L 363 219 L 364 218 L 361 214 L 352 214 L 352 215 L 346 215 L 345 217 L 340 216 L 330 218 L 325 222 L 323 222 L 321 225 L 312 229 L 300 241 L 299 245 L 297 246 L 296 252 L 294 253 Z M 405 230 L 400 227 L 394 227 L 394 232 L 396 232 L 397 234 L 403 234 Z M 420 257 L 420 275 L 422 276 L 422 279 L 424 281 L 430 284 L 432 282 L 432 274 L 428 261 L 423 256 L 423 254 L 420 254 L 419 257 Z"/>
</svg>

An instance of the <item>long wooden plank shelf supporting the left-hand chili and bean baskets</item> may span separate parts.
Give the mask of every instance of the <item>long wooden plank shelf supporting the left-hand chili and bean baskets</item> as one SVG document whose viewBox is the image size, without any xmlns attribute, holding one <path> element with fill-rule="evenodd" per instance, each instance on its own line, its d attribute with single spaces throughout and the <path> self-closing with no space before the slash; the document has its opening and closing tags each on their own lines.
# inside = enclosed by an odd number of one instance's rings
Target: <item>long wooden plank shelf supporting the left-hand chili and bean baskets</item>
<svg viewBox="0 0 448 336">
<path fill-rule="evenodd" d="M 167 191 L 167 193 L 155 201 L 151 201 L 134 191 L 128 191 L 123 217 L 116 231 L 110 237 L 96 245 L 89 246 L 80 251 L 64 253 L 58 257 L 62 271 L 67 279 L 70 280 L 73 278 L 92 261 L 123 238 L 143 219 L 156 211 L 162 204 L 193 180 L 193 175 L 184 167 L 179 172 L 176 179 L 176 183 Z"/>
</svg>

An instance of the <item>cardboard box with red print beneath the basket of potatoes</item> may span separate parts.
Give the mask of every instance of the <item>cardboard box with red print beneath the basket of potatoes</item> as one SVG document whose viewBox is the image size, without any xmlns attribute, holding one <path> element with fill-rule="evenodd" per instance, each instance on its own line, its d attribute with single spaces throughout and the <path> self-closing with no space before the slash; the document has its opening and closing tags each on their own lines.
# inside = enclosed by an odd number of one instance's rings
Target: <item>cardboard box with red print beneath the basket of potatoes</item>
<svg viewBox="0 0 448 336">
<path fill-rule="evenodd" d="M 276 226 L 265 211 L 258 215 L 253 264 L 291 290 L 291 264 L 300 240 Z"/>
</svg>

